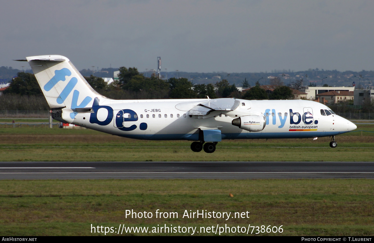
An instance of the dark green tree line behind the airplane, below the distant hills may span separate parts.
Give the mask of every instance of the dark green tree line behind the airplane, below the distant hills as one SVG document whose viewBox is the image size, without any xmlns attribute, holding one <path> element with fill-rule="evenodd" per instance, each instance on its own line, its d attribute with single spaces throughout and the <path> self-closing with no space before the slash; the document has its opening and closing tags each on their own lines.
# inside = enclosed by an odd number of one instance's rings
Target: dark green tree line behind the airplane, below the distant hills
<svg viewBox="0 0 374 243">
<path fill-rule="evenodd" d="M 168 80 L 157 76 L 144 77 L 135 67 L 119 68 L 119 76 L 112 83 L 105 83 L 101 77 L 85 77 L 91 87 L 111 99 L 193 99 L 193 98 L 242 98 L 242 99 L 293 99 L 292 90 L 282 81 L 274 79 L 278 85 L 273 92 L 266 92 L 259 81 L 246 92 L 239 92 L 234 84 L 223 79 L 215 84 L 194 84 L 186 78 Z M 294 89 L 303 89 L 303 80 L 291 84 Z M 250 87 L 248 82 L 243 83 Z M 365 106 L 367 107 L 367 106 Z M 341 108 L 340 108 L 341 109 Z M 20 72 L 12 80 L 8 89 L 0 96 L 0 110 L 49 110 L 39 84 L 31 73 Z M 343 109 L 342 109 L 343 110 Z M 366 109 L 365 109 L 366 110 Z"/>
</svg>

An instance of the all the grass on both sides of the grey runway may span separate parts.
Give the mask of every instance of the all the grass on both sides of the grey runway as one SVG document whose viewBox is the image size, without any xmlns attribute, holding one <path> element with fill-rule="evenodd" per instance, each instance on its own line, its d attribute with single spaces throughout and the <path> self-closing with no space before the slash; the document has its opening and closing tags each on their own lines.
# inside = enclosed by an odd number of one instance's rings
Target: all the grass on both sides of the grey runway
<svg viewBox="0 0 374 243">
<path fill-rule="evenodd" d="M 373 161 L 374 126 L 329 138 L 223 141 L 213 154 L 194 153 L 188 141 L 137 141 L 89 129 L 1 128 L 1 161 Z M 233 197 L 229 197 L 229 193 Z M 248 228 L 282 225 L 282 236 L 372 236 L 371 179 L 253 180 L 0 180 L 0 234 L 93 236 L 103 227 Z M 156 218 L 156 210 L 178 218 Z M 126 218 L 126 210 L 151 218 Z M 249 212 L 249 218 L 183 218 L 187 212 Z M 190 211 L 191 210 L 191 211 Z M 156 232 L 157 229 L 156 228 Z M 214 231 L 214 228 L 210 228 Z M 244 229 L 244 228 L 241 228 Z M 250 228 L 249 233 L 251 233 Z M 219 230 L 217 231 L 217 235 Z M 254 230 L 254 235 L 256 230 Z M 190 235 L 191 233 L 122 233 Z M 116 235 L 107 233 L 107 235 Z M 221 235 L 243 235 L 223 233 Z"/>
</svg>

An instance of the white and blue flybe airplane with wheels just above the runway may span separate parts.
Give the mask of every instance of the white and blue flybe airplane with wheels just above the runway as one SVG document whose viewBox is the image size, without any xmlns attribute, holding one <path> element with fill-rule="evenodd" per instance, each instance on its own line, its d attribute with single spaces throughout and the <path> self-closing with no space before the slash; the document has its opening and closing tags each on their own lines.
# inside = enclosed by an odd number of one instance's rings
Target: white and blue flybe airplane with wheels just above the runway
<svg viewBox="0 0 374 243">
<path fill-rule="evenodd" d="M 313 138 L 357 126 L 326 105 L 307 100 L 114 100 L 100 95 L 70 60 L 60 55 L 27 60 L 53 119 L 125 138 L 187 140 L 191 150 L 213 153 L 223 139 Z"/>
</svg>

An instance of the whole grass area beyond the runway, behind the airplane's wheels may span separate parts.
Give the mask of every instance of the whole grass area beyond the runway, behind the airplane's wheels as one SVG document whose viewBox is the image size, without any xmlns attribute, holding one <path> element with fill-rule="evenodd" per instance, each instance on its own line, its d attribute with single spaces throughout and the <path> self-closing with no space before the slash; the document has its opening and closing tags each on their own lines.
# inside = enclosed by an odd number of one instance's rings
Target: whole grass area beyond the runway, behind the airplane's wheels
<svg viewBox="0 0 374 243">
<path fill-rule="evenodd" d="M 1 161 L 373 161 L 374 126 L 330 138 L 224 140 L 213 154 L 189 141 L 140 141 L 90 129 L 0 127 Z M 363 130 L 361 132 L 361 130 Z"/>
</svg>

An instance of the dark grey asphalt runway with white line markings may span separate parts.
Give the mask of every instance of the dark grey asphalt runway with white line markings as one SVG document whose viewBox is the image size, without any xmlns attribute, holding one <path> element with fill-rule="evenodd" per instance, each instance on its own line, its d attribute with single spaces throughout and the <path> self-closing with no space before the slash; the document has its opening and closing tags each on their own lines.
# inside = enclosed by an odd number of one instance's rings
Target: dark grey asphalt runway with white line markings
<svg viewBox="0 0 374 243">
<path fill-rule="evenodd" d="M 374 162 L 0 162 L 0 179 L 374 178 Z"/>
</svg>

